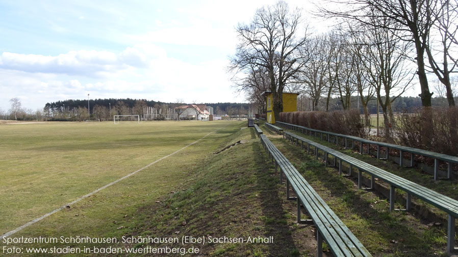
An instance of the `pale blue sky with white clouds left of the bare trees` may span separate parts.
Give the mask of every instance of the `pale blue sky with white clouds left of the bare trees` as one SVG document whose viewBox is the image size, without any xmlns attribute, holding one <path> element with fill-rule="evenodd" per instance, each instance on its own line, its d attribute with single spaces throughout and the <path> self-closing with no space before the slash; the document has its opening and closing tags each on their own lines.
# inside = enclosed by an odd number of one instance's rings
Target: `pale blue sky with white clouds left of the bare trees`
<svg viewBox="0 0 458 257">
<path fill-rule="evenodd" d="M 66 99 L 246 102 L 226 72 L 238 23 L 276 1 L 1 1 L 0 109 Z M 309 1 L 287 1 L 312 17 Z"/>
</svg>

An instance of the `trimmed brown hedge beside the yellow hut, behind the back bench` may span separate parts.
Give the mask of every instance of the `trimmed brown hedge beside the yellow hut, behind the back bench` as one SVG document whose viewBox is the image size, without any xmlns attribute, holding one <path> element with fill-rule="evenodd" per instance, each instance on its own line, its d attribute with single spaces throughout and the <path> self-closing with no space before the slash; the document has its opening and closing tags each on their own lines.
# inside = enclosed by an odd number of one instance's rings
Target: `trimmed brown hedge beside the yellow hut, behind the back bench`
<svg viewBox="0 0 458 257">
<path fill-rule="evenodd" d="M 358 110 L 280 112 L 279 121 L 307 128 L 367 138 Z"/>
</svg>

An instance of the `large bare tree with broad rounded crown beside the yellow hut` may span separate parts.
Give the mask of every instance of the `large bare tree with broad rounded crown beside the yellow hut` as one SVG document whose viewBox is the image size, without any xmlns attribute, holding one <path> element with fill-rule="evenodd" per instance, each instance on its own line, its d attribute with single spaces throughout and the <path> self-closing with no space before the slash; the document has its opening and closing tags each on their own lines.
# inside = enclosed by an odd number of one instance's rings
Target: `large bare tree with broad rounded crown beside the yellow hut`
<svg viewBox="0 0 458 257">
<path fill-rule="evenodd" d="M 301 24 L 301 11 L 290 11 L 286 2 L 279 1 L 258 9 L 250 24 L 237 27 L 239 44 L 230 70 L 236 74 L 250 74 L 253 68 L 267 71 L 275 119 L 283 111 L 284 89 L 307 61 L 299 54 L 307 40 L 307 28 Z"/>
</svg>

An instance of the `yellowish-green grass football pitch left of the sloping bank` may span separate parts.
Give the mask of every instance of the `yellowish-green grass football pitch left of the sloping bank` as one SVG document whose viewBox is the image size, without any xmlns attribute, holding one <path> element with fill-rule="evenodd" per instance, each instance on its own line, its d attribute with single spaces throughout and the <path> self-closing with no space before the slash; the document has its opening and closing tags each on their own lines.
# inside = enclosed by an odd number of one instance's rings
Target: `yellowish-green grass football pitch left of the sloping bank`
<svg viewBox="0 0 458 257">
<path fill-rule="evenodd" d="M 120 228 L 138 225 L 124 221 L 126 215 L 179 188 L 186 175 L 205 165 L 206 157 L 224 147 L 241 124 L 1 125 L 0 235 L 64 206 L 14 236 L 116 236 Z"/>
</svg>

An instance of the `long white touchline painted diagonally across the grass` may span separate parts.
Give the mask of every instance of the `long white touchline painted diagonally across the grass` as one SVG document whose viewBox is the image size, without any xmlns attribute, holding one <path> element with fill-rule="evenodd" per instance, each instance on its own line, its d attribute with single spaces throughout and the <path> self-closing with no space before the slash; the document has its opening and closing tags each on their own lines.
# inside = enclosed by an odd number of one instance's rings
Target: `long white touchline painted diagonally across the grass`
<svg viewBox="0 0 458 257">
<path fill-rule="evenodd" d="M 63 206 L 57 208 L 56 210 L 54 210 L 54 211 L 52 211 L 52 212 L 46 213 L 46 214 L 44 214 L 43 216 L 41 216 L 41 217 L 39 217 L 39 218 L 36 218 L 36 219 L 34 219 L 34 220 L 32 220 L 32 221 L 27 222 L 26 224 L 23 224 L 23 225 L 21 225 L 21 226 L 19 226 L 19 227 L 16 227 L 16 229 L 14 229 L 14 230 L 12 230 L 12 231 L 10 231 L 10 232 L 7 232 L 7 233 L 3 234 L 2 236 L 0 236 L 0 240 L 2 240 L 2 239 L 5 238 L 5 237 L 9 237 L 9 236 L 15 234 L 16 232 L 19 232 L 19 231 L 25 229 L 26 227 L 32 225 L 33 223 L 36 223 L 36 222 L 38 222 L 38 221 L 40 221 L 40 220 L 46 218 L 47 216 L 53 215 L 54 213 L 56 213 L 56 212 L 58 212 L 58 211 L 60 211 L 60 210 L 62 210 L 62 209 L 65 209 L 67 206 L 71 206 L 71 205 L 73 205 L 73 204 L 75 204 L 75 203 L 78 203 L 78 202 L 80 202 L 82 199 L 87 198 L 87 197 L 89 197 L 89 196 L 95 194 L 96 192 L 98 192 L 98 191 L 100 191 L 100 190 L 103 190 L 103 189 L 105 189 L 105 188 L 107 188 L 107 187 L 109 187 L 109 186 L 111 186 L 111 185 L 114 185 L 114 184 L 118 183 L 118 182 L 121 181 L 121 180 L 124 180 L 124 179 L 126 179 L 126 178 L 129 178 L 130 176 L 132 176 L 132 175 L 134 175 L 134 174 L 140 172 L 141 170 L 143 170 L 143 169 L 145 169 L 145 168 L 151 166 L 152 164 L 155 164 L 155 163 L 158 162 L 158 161 L 161 161 L 161 160 L 163 160 L 163 159 L 165 159 L 165 158 L 167 158 L 167 157 L 169 157 L 169 156 L 171 156 L 171 155 L 174 155 L 174 154 L 180 152 L 181 150 L 183 150 L 183 149 L 185 149 L 185 148 L 187 148 L 187 147 L 189 147 L 189 146 L 192 146 L 192 145 L 196 144 L 198 141 L 202 140 L 203 138 L 206 138 L 206 137 L 207 137 L 208 135 L 210 135 L 211 133 L 216 132 L 216 131 L 218 131 L 218 130 L 220 130 L 220 129 L 223 129 L 223 128 L 227 127 L 228 125 L 229 125 L 229 124 L 227 124 L 226 126 L 224 126 L 224 127 L 222 127 L 222 128 L 219 128 L 219 129 L 217 129 L 217 130 L 214 130 L 214 131 L 208 133 L 207 135 L 205 135 L 205 136 L 203 136 L 203 137 L 197 139 L 196 141 L 194 141 L 194 142 L 192 142 L 191 144 L 189 144 L 189 145 L 183 147 L 182 149 L 176 150 L 175 152 L 173 152 L 173 153 L 171 153 L 171 154 L 169 154 L 169 155 L 166 155 L 166 156 L 160 158 L 159 160 L 156 160 L 156 161 L 154 161 L 154 162 L 151 162 L 151 163 L 149 163 L 148 165 L 144 166 L 143 168 L 140 168 L 140 169 L 135 170 L 135 172 L 133 172 L 133 173 L 130 173 L 130 174 L 128 174 L 128 175 L 125 175 L 124 177 L 122 177 L 122 178 L 120 178 L 120 179 L 117 179 L 117 180 L 111 182 L 110 184 L 107 184 L 107 185 L 105 185 L 105 186 L 103 186 L 103 187 L 100 187 L 99 189 L 96 189 L 96 190 L 94 190 L 94 191 L 92 191 L 92 192 L 90 192 L 90 193 L 88 193 L 88 194 L 86 194 L 86 195 L 84 195 L 84 196 L 81 196 L 80 198 L 76 199 L 75 201 L 73 201 L 73 202 L 71 202 L 71 203 L 68 203 L 68 204 L 66 204 L 66 205 L 63 205 Z"/>
</svg>

